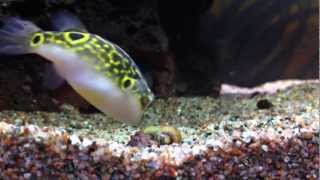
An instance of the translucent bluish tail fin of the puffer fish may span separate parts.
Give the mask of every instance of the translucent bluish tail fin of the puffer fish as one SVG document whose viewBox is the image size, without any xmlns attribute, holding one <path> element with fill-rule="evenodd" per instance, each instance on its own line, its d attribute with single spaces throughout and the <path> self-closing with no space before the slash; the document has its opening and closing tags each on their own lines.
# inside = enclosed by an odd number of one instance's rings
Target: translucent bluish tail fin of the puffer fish
<svg viewBox="0 0 320 180">
<path fill-rule="evenodd" d="M 5 17 L 0 21 L 0 54 L 32 53 L 30 38 L 41 29 L 32 22 L 15 17 Z"/>
</svg>

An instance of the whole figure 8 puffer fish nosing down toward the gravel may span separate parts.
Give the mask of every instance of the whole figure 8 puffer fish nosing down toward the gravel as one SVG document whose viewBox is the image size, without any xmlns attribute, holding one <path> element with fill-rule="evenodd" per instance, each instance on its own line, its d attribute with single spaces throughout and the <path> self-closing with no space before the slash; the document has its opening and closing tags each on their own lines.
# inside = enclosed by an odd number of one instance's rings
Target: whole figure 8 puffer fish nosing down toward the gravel
<svg viewBox="0 0 320 180">
<path fill-rule="evenodd" d="M 116 44 L 88 33 L 75 16 L 53 16 L 53 26 L 60 31 L 43 31 L 14 17 L 2 22 L 1 54 L 43 56 L 77 93 L 105 114 L 134 124 L 152 102 L 154 95 L 130 56 Z"/>
</svg>

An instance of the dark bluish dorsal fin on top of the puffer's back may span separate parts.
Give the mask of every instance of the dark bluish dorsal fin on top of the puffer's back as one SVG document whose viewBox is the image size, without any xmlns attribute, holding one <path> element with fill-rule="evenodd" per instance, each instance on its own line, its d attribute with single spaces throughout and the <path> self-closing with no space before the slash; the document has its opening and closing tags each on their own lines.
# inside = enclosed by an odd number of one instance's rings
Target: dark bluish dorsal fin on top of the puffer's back
<svg viewBox="0 0 320 180">
<path fill-rule="evenodd" d="M 68 11 L 58 11 L 51 15 L 52 29 L 54 31 L 87 32 L 86 27 L 74 14 Z"/>
</svg>

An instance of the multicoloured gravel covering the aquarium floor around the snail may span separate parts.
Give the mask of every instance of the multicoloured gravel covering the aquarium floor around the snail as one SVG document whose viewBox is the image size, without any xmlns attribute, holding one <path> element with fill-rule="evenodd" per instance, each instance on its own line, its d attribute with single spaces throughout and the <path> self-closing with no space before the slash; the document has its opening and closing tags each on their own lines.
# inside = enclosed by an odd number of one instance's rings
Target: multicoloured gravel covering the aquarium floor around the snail
<svg viewBox="0 0 320 180">
<path fill-rule="evenodd" d="M 3 111 L 0 176 L 319 179 L 319 85 L 158 99 L 137 127 L 69 106 L 59 113 Z M 271 105 L 259 108 L 261 101 Z M 176 127 L 182 142 L 127 145 L 145 126 L 161 124 Z"/>
</svg>

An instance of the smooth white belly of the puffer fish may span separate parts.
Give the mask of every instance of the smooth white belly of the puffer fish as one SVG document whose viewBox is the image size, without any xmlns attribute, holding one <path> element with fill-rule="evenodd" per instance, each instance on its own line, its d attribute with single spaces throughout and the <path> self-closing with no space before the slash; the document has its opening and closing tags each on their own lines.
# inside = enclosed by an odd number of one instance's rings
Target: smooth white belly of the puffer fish
<svg viewBox="0 0 320 180">
<path fill-rule="evenodd" d="M 121 91 L 76 53 L 54 45 L 43 45 L 36 53 L 52 61 L 58 74 L 100 111 L 126 123 L 140 120 L 142 110 L 137 98 Z"/>
</svg>

